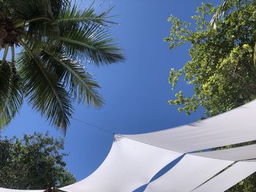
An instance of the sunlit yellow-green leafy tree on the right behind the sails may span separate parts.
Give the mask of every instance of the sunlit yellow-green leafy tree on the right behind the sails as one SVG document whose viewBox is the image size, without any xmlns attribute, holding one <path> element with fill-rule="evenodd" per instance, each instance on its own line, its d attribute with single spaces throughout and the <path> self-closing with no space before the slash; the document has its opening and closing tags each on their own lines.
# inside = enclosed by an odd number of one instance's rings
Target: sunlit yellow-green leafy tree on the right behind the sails
<svg viewBox="0 0 256 192">
<path fill-rule="evenodd" d="M 170 37 L 165 41 L 170 49 L 189 43 L 191 58 L 181 69 L 170 70 L 169 82 L 174 89 L 182 77 L 194 89 L 192 95 L 179 91 L 170 104 L 187 114 L 203 107 L 211 117 L 255 99 L 255 10 L 249 0 L 225 0 L 221 7 L 202 4 L 192 16 L 194 27 L 170 16 Z M 255 191 L 255 180 L 252 174 L 229 191 Z"/>
</svg>

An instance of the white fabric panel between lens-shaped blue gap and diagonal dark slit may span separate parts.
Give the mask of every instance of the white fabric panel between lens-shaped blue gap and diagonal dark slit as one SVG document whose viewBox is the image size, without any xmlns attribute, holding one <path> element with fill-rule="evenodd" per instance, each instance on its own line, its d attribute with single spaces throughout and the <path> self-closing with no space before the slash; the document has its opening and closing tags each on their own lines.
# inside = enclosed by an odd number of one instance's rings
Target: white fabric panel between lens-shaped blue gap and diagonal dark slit
<svg viewBox="0 0 256 192">
<path fill-rule="evenodd" d="M 189 192 L 230 164 L 233 164 L 233 161 L 184 155 L 176 166 L 149 183 L 146 192 Z"/>
</svg>

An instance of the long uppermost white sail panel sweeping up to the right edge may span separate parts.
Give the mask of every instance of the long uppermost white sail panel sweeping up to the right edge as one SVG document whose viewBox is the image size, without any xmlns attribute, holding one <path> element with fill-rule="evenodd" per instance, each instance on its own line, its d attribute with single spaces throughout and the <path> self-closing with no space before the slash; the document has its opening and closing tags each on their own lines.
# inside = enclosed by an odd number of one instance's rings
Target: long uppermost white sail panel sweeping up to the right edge
<svg viewBox="0 0 256 192">
<path fill-rule="evenodd" d="M 221 115 L 178 128 L 125 135 L 158 147 L 189 153 L 256 139 L 256 100 Z"/>
</svg>

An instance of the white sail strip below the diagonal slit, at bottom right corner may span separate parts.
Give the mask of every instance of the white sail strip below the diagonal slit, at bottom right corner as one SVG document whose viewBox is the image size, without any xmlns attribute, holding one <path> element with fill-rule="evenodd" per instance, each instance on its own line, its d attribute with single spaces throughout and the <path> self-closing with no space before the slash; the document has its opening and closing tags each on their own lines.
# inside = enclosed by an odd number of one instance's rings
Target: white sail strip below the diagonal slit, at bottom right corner
<svg viewBox="0 0 256 192">
<path fill-rule="evenodd" d="M 218 174 L 216 177 L 209 180 L 207 183 L 196 188 L 195 192 L 221 192 L 233 185 L 236 185 L 244 178 L 248 177 L 250 174 L 256 171 L 255 161 L 241 161 L 233 166 L 230 166 L 225 172 Z"/>
</svg>

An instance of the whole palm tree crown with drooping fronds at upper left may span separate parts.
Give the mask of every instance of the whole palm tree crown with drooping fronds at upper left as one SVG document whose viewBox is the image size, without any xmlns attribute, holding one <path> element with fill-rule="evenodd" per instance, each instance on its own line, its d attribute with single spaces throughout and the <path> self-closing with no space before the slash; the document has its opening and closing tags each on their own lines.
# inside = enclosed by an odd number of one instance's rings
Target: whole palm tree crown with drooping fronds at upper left
<svg viewBox="0 0 256 192">
<path fill-rule="evenodd" d="M 97 14 L 67 0 L 0 0 L 0 128 L 24 98 L 64 132 L 73 101 L 102 106 L 99 85 L 80 60 L 95 66 L 124 60 L 110 37 L 110 10 Z"/>
</svg>

